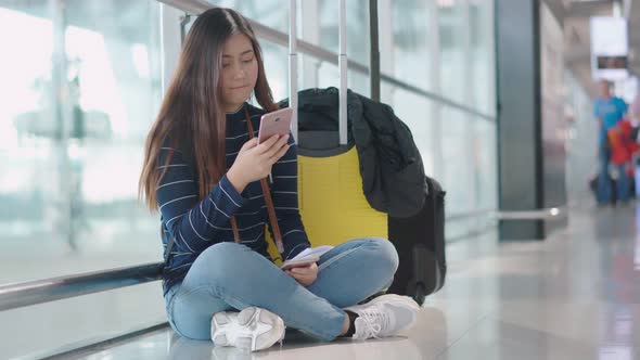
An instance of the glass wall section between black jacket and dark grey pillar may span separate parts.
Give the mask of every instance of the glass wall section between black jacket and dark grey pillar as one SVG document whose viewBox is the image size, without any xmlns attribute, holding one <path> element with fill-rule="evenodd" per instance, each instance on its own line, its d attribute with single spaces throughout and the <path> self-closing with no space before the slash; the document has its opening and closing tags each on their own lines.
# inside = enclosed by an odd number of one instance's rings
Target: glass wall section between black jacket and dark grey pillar
<svg viewBox="0 0 640 360">
<path fill-rule="evenodd" d="M 460 105 L 383 83 L 409 125 L 427 173 L 449 190 L 447 213 L 497 206 L 494 1 L 381 0 L 382 72 Z"/>
</svg>

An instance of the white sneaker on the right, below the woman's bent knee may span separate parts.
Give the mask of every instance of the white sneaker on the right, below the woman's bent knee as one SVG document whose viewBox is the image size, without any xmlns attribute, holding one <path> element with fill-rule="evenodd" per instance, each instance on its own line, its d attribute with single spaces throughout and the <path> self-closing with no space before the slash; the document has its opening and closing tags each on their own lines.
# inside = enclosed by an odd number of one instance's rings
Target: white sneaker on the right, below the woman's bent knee
<svg viewBox="0 0 640 360">
<path fill-rule="evenodd" d="M 363 305 L 345 310 L 358 314 L 354 339 L 396 335 L 415 323 L 420 306 L 408 296 L 382 295 Z"/>
</svg>

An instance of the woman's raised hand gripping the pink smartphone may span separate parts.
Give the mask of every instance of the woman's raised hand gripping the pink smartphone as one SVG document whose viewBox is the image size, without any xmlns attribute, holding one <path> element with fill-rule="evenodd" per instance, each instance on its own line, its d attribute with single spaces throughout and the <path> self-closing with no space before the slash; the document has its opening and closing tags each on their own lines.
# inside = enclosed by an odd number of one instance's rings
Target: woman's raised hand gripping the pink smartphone
<svg viewBox="0 0 640 360">
<path fill-rule="evenodd" d="M 271 167 L 289 151 L 289 134 L 273 136 L 258 145 L 251 139 L 238 153 L 235 162 L 227 172 L 233 188 L 241 193 L 249 182 L 266 178 Z"/>
</svg>

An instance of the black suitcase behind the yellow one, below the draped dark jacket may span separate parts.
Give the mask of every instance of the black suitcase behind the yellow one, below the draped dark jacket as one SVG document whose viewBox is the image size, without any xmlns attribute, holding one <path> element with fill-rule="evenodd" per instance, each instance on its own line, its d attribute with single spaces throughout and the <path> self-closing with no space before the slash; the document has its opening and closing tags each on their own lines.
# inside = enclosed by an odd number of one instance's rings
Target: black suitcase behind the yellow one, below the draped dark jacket
<svg viewBox="0 0 640 360">
<path fill-rule="evenodd" d="M 388 236 L 398 250 L 400 265 L 387 293 L 424 298 L 445 284 L 445 191 L 425 178 L 424 207 L 410 218 L 388 218 Z"/>
</svg>

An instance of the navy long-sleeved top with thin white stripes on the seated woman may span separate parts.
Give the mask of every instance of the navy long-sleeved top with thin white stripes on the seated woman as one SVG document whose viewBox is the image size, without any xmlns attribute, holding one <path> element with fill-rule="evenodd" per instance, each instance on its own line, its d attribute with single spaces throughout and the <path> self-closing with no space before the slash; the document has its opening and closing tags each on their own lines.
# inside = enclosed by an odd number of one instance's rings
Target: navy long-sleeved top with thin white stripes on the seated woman
<svg viewBox="0 0 640 360">
<path fill-rule="evenodd" d="M 248 141 L 244 108 L 248 106 L 254 130 L 259 129 L 260 108 L 245 104 L 238 112 L 227 114 L 227 169 L 231 167 L 242 145 Z M 290 259 L 309 247 L 309 241 L 298 210 L 297 196 L 297 147 L 293 137 L 286 154 L 273 165 L 271 195 L 278 223 L 282 232 L 283 258 Z M 175 237 L 171 254 L 164 269 L 163 287 L 166 292 L 182 281 L 193 261 L 207 247 L 220 242 L 233 242 L 231 216 L 235 216 L 242 244 L 269 257 L 265 228 L 269 216 L 259 181 L 249 183 L 239 194 L 225 175 L 218 184 L 202 201 L 197 198 L 195 162 L 190 152 L 180 144 L 171 149 L 164 144 L 158 158 L 158 168 L 164 170 L 165 160 L 174 153 L 167 172 L 157 188 L 157 202 L 162 215 L 163 246 Z"/>
</svg>

